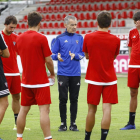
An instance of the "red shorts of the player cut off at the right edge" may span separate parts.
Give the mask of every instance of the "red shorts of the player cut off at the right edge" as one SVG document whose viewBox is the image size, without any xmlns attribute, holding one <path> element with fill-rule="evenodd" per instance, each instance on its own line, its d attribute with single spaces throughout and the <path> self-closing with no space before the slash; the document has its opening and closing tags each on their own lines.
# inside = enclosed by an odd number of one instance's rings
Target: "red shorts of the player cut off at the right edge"
<svg viewBox="0 0 140 140">
<path fill-rule="evenodd" d="M 139 83 L 140 83 L 140 68 L 129 68 L 127 86 L 131 88 L 138 88 Z"/>
</svg>

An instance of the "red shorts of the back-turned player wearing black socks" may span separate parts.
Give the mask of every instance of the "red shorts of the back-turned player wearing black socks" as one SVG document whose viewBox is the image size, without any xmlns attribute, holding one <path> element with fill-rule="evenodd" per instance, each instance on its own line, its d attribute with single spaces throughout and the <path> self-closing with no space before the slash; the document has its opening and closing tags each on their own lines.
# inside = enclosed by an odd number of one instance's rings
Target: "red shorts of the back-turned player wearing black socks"
<svg viewBox="0 0 140 140">
<path fill-rule="evenodd" d="M 118 103 L 117 84 L 109 86 L 88 84 L 88 104 L 98 105 L 100 103 L 101 95 L 103 103 Z"/>
</svg>

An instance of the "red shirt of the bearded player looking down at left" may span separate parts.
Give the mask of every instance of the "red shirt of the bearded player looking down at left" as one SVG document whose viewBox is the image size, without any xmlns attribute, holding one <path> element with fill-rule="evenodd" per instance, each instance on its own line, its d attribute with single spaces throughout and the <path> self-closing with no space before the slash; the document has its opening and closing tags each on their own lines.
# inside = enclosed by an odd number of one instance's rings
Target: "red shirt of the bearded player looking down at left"
<svg viewBox="0 0 140 140">
<path fill-rule="evenodd" d="M 5 76 L 17 76 L 20 75 L 18 65 L 17 65 L 17 53 L 16 53 L 16 38 L 17 35 L 12 33 L 6 35 L 3 31 L 0 32 L 4 43 L 8 47 L 10 52 L 9 58 L 1 58 L 3 63 L 3 69 Z"/>
</svg>

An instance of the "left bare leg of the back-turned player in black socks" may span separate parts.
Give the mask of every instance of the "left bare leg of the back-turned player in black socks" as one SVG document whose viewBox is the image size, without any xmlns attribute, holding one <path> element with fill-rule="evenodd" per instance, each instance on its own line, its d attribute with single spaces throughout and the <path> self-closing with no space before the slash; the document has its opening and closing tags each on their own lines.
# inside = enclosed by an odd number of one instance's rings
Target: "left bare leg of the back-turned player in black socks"
<svg viewBox="0 0 140 140">
<path fill-rule="evenodd" d="M 91 132 L 95 124 L 95 114 L 97 105 L 88 104 L 88 114 L 86 118 L 86 131 Z"/>
</svg>

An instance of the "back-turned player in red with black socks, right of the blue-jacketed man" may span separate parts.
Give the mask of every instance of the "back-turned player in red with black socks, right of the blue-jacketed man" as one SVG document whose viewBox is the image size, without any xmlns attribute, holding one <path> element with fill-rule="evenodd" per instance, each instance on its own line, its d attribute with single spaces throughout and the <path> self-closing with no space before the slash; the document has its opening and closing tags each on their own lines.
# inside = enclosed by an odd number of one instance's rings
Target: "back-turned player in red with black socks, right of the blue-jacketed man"
<svg viewBox="0 0 140 140">
<path fill-rule="evenodd" d="M 85 52 L 86 59 L 89 59 L 85 77 L 85 82 L 88 83 L 85 140 L 90 140 L 101 96 L 103 99 L 101 140 L 106 140 L 109 131 L 111 106 L 118 103 L 117 77 L 113 62 L 119 54 L 120 39 L 108 32 L 111 24 L 109 12 L 100 12 L 97 22 L 98 31 L 86 34 L 83 43 L 83 52 Z"/>
</svg>

